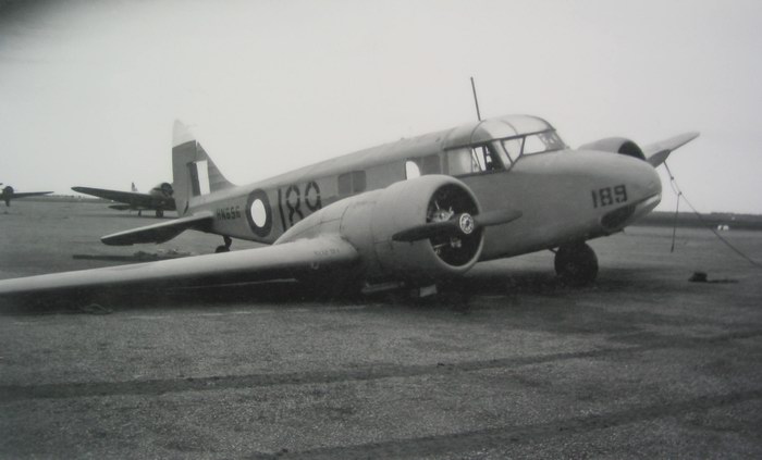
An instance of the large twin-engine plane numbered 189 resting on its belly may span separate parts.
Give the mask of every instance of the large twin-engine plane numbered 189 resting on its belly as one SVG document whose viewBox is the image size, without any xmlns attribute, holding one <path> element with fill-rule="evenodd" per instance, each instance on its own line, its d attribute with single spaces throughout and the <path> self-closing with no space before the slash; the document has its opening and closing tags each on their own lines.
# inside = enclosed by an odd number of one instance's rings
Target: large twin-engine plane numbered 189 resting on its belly
<svg viewBox="0 0 762 460">
<path fill-rule="evenodd" d="M 180 217 L 102 241 L 163 243 L 196 229 L 223 236 L 221 253 L 7 279 L 0 294 L 275 278 L 320 279 L 365 293 L 431 293 L 479 261 L 544 249 L 555 252 L 561 277 L 589 283 L 598 259 L 585 241 L 651 211 L 662 192 L 654 167 L 697 136 L 642 149 L 606 138 L 573 150 L 544 120 L 513 115 L 235 186 L 176 122 L 172 167 Z M 231 237 L 269 246 L 226 251 Z"/>
</svg>

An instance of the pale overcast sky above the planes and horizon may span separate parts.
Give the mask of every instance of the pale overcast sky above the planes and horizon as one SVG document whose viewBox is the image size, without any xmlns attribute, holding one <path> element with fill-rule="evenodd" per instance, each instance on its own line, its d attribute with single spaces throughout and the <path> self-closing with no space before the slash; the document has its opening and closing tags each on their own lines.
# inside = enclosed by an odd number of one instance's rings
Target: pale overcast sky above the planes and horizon
<svg viewBox="0 0 762 460">
<path fill-rule="evenodd" d="M 699 130 L 668 161 L 688 199 L 762 213 L 760 24 L 758 0 L 0 1 L 0 182 L 147 190 L 175 119 L 255 182 L 474 120 L 472 75 L 483 116 L 573 147 Z"/>
</svg>

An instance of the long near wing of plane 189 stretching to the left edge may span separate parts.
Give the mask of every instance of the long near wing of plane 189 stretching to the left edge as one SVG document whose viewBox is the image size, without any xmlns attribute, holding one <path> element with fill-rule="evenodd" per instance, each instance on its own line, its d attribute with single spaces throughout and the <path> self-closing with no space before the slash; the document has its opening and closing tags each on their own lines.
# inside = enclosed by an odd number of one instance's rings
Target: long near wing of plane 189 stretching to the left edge
<svg viewBox="0 0 762 460">
<path fill-rule="evenodd" d="M 198 287 L 285 279 L 358 260 L 357 250 L 349 243 L 337 236 L 323 236 L 241 251 L 3 279 L 0 296 L 135 284 Z"/>
</svg>

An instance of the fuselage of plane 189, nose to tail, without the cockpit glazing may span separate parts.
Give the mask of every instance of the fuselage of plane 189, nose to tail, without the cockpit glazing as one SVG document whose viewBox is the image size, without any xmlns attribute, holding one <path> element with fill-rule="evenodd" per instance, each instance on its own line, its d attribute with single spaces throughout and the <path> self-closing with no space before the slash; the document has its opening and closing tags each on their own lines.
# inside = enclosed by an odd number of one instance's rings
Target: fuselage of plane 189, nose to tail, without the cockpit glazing
<svg viewBox="0 0 762 460">
<path fill-rule="evenodd" d="M 211 212 L 210 233 L 272 244 L 299 221 L 344 198 L 418 174 L 452 175 L 470 188 L 481 212 L 511 208 L 523 213 L 515 222 L 486 229 L 480 260 L 490 260 L 618 232 L 661 198 L 661 182 L 651 165 L 614 152 L 563 148 L 521 154 L 493 169 L 479 167 L 474 160 L 476 171 L 453 174 L 454 152 L 490 142 L 446 148 L 442 139 L 447 135 L 403 139 L 192 197 L 187 210 Z"/>
</svg>

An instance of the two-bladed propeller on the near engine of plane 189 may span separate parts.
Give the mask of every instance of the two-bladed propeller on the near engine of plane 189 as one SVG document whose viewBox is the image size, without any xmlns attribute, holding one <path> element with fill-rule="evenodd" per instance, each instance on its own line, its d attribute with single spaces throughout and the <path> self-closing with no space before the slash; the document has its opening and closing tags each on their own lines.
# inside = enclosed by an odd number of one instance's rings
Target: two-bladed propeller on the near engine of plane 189
<svg viewBox="0 0 762 460">
<path fill-rule="evenodd" d="M 500 209 L 471 215 L 467 212 L 453 214 L 446 221 L 429 222 L 397 232 L 392 235 L 394 241 L 418 241 L 435 237 L 468 236 L 483 227 L 507 224 L 523 215 L 521 211 Z"/>
</svg>

